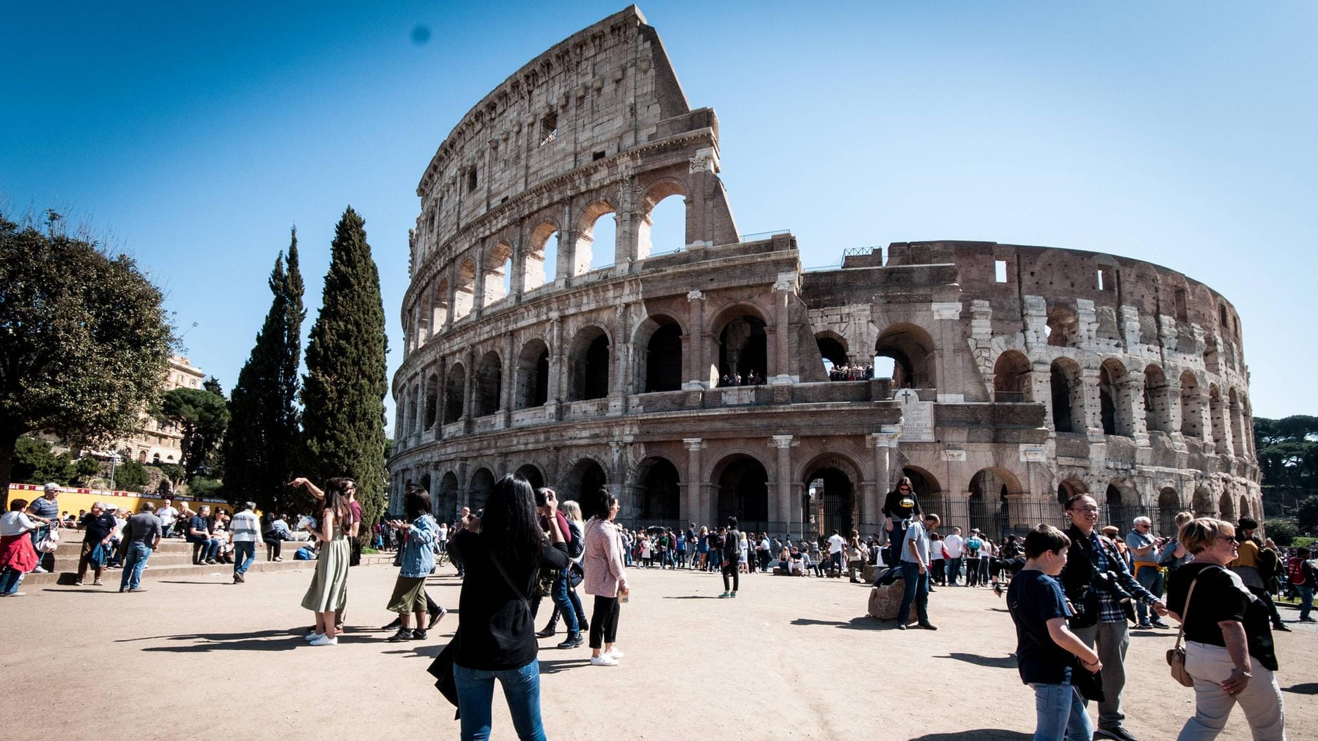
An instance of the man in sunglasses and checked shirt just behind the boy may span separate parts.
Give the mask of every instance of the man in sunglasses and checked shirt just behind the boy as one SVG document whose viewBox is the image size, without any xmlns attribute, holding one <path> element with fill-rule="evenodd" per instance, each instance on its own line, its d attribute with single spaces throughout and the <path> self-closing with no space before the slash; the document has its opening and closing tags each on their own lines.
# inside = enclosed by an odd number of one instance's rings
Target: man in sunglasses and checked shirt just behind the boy
<svg viewBox="0 0 1318 741">
<path fill-rule="evenodd" d="M 1098 651 L 1103 663 L 1103 695 L 1098 704 L 1098 729 L 1094 738 L 1135 741 L 1122 725 L 1122 688 L 1126 686 L 1126 651 L 1131 645 L 1127 620 L 1135 620 L 1133 601 L 1139 600 L 1159 616 L 1166 605 L 1140 585 L 1126 568 L 1116 545 L 1098 534 L 1098 502 L 1089 494 L 1066 501 L 1072 526 L 1066 530 L 1070 551 L 1062 570 L 1062 591 L 1073 608 L 1068 620 L 1072 632 Z"/>
</svg>

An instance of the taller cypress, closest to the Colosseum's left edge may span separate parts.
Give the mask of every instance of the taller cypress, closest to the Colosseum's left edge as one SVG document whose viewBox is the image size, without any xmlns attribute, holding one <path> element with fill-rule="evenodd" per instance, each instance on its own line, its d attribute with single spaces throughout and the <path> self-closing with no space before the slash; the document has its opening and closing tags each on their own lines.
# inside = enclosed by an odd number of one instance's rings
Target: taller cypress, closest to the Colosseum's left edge
<svg viewBox="0 0 1318 741">
<path fill-rule="evenodd" d="M 357 481 L 364 533 L 385 506 L 387 344 L 365 222 L 348 207 L 335 228 L 320 315 L 307 344 L 302 427 L 308 476 Z"/>
</svg>

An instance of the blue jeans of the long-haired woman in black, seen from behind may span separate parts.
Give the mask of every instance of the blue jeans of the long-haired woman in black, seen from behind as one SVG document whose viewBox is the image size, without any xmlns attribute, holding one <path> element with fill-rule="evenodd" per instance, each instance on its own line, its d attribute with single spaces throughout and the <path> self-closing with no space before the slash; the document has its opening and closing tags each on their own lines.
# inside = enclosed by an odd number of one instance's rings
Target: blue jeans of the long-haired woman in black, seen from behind
<svg viewBox="0 0 1318 741">
<path fill-rule="evenodd" d="M 531 659 L 521 668 L 484 670 L 453 665 L 457 686 L 457 709 L 463 713 L 463 741 L 485 741 L 490 737 L 490 703 L 494 680 L 503 684 L 503 699 L 513 715 L 513 728 L 522 741 L 544 741 L 540 724 L 540 663 Z"/>
</svg>

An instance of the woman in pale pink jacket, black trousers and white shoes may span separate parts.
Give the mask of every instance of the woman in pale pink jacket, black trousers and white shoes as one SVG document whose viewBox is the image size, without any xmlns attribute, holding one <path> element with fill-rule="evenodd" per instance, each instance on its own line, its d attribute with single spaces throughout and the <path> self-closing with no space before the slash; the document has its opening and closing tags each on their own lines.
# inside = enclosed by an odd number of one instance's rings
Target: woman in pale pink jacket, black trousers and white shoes
<svg viewBox="0 0 1318 741">
<path fill-rule="evenodd" d="M 613 645 L 618 637 L 618 597 L 626 597 L 630 592 L 627 572 L 622 564 L 622 537 L 613 525 L 613 518 L 618 516 L 618 497 L 608 489 L 600 489 L 593 502 L 583 504 L 594 505 L 593 516 L 585 523 L 585 551 L 581 554 L 585 593 L 594 595 L 590 663 L 617 666 L 622 658 L 622 651 Z"/>
</svg>

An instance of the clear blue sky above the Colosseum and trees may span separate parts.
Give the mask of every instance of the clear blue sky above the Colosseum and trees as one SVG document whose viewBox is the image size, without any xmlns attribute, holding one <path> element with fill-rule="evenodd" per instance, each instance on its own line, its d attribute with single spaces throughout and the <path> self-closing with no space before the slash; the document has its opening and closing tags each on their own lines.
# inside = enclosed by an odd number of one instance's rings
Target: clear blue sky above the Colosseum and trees
<svg viewBox="0 0 1318 741">
<path fill-rule="evenodd" d="M 5 3 L 0 199 L 54 207 L 134 254 L 225 389 L 289 227 L 310 330 L 352 204 L 380 265 L 391 374 L 435 149 L 522 63 L 622 7 Z M 692 105 L 718 111 L 742 232 L 792 229 L 805 265 L 921 239 L 1166 265 L 1238 307 L 1256 414 L 1318 413 L 1313 316 L 1298 311 L 1318 273 L 1318 5 L 641 9 Z"/>
</svg>

